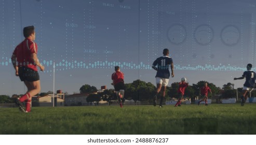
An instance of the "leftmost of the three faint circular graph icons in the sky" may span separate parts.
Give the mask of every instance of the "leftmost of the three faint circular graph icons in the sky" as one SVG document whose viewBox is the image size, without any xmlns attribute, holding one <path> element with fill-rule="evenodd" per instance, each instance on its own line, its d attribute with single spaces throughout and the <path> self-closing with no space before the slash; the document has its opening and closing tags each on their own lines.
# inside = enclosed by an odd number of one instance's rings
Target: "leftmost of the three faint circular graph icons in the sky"
<svg viewBox="0 0 256 145">
<path fill-rule="evenodd" d="M 182 44 L 186 39 L 186 29 L 182 24 L 173 24 L 167 30 L 167 38 L 174 45 Z"/>
</svg>

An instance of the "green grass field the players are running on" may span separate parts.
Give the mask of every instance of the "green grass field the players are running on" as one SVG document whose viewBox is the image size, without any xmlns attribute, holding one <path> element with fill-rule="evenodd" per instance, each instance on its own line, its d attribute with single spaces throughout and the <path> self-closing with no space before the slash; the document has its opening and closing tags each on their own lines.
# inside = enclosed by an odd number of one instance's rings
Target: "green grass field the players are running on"
<svg viewBox="0 0 256 145">
<path fill-rule="evenodd" d="M 0 134 L 256 134 L 256 104 L 0 108 Z"/>
</svg>

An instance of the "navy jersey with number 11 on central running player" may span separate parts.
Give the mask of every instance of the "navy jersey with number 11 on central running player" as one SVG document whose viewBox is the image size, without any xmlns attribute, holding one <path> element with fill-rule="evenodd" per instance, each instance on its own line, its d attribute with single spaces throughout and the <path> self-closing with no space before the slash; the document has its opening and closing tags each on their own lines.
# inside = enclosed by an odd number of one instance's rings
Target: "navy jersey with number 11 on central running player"
<svg viewBox="0 0 256 145">
<path fill-rule="evenodd" d="M 156 77 L 159 78 L 170 78 L 170 66 L 171 66 L 172 59 L 169 56 L 161 56 L 158 57 L 154 62 L 153 65 L 157 67 Z"/>
</svg>

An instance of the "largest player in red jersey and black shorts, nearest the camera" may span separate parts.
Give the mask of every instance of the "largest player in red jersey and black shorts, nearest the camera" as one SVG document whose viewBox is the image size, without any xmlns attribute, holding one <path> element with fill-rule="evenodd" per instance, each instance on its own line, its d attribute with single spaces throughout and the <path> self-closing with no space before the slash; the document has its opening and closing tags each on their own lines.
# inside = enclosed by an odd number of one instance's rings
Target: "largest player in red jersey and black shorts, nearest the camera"
<svg viewBox="0 0 256 145">
<path fill-rule="evenodd" d="M 41 65 L 37 58 L 37 44 L 35 40 L 35 27 L 27 26 L 23 28 L 23 40 L 14 50 L 11 56 L 12 65 L 15 68 L 16 76 L 24 82 L 28 91 L 16 100 L 16 104 L 23 112 L 31 111 L 32 96 L 38 94 L 41 90 L 37 66 L 44 71 L 45 67 Z M 26 101 L 26 109 L 22 102 Z"/>
</svg>

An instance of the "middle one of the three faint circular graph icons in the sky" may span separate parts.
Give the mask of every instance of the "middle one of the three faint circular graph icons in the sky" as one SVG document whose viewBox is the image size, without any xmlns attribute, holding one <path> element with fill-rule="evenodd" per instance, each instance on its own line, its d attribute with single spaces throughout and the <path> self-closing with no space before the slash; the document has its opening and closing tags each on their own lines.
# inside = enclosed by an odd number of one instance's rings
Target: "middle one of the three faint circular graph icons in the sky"
<svg viewBox="0 0 256 145">
<path fill-rule="evenodd" d="M 209 45 L 213 39 L 213 29 L 208 24 L 201 24 L 196 27 L 194 32 L 194 38 L 199 45 Z"/>
</svg>

